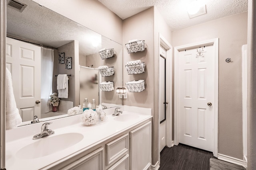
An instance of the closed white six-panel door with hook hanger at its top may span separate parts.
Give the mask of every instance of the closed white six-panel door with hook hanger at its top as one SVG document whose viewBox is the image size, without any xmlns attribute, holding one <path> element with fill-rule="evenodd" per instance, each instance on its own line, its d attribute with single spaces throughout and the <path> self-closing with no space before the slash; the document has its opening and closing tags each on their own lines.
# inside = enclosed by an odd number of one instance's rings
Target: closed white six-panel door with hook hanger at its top
<svg viewBox="0 0 256 170">
<path fill-rule="evenodd" d="M 213 45 L 179 51 L 178 58 L 179 143 L 212 152 L 215 60 Z"/>
</svg>

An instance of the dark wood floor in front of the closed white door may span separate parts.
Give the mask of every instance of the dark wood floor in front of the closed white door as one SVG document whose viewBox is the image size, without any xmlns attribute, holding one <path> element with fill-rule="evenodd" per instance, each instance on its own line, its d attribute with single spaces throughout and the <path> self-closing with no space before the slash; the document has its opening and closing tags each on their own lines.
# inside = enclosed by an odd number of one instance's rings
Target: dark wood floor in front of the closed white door
<svg viewBox="0 0 256 170">
<path fill-rule="evenodd" d="M 159 170 L 209 170 L 212 152 L 179 144 L 160 153 Z"/>
</svg>

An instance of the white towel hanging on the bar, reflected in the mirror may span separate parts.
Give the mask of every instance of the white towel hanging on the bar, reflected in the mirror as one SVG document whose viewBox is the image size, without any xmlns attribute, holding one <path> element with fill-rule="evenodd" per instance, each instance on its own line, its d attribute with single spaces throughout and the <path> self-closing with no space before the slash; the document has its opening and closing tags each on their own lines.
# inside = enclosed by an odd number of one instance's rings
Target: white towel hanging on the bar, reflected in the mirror
<svg viewBox="0 0 256 170">
<path fill-rule="evenodd" d="M 64 75 L 64 76 L 60 76 L 60 75 Z M 60 76 L 60 79 L 58 81 L 59 76 Z M 58 77 L 57 77 L 58 98 L 68 98 L 68 75 L 59 74 Z M 62 78 L 63 78 L 63 82 L 62 82 Z M 60 84 L 58 84 L 58 82 Z"/>
</svg>

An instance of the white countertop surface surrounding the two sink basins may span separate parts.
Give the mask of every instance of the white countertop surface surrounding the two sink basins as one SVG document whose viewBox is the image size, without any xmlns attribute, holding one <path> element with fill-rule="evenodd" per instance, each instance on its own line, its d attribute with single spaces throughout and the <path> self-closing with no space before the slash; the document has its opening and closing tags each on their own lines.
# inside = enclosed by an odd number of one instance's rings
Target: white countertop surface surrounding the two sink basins
<svg viewBox="0 0 256 170">
<path fill-rule="evenodd" d="M 47 121 L 52 122 L 52 124 L 48 126 L 48 129 L 55 131 L 54 135 L 60 135 L 64 133 L 80 133 L 84 135 L 84 138 L 71 147 L 39 158 L 21 159 L 16 156 L 16 153 L 26 145 L 39 140 L 44 140 L 44 138 L 50 138 L 54 136 L 51 135 L 36 140 L 32 139 L 34 135 L 40 133 L 41 125 L 45 122 L 17 127 L 16 129 L 6 131 L 6 169 L 46 170 L 60 163 L 56 161 L 59 161 L 65 157 L 68 158 L 67 156 L 74 155 L 74 153 L 79 154 L 80 152 L 84 152 L 85 150 L 90 149 L 99 143 L 110 139 L 111 137 L 114 137 L 115 135 L 118 135 L 123 131 L 126 131 L 152 117 L 151 109 L 148 108 L 122 106 L 120 110 L 123 111 L 123 115 L 136 114 L 138 115 L 138 118 L 129 121 L 116 121 L 114 120 L 115 116 L 111 115 L 114 113 L 114 108 L 111 108 L 104 109 L 108 117 L 106 121 L 92 126 L 83 125 L 80 121 L 81 115 L 74 115 L 72 117 Z M 63 143 L 68 141 L 59 142 Z M 31 150 L 33 149 L 35 148 L 31 148 Z"/>
</svg>

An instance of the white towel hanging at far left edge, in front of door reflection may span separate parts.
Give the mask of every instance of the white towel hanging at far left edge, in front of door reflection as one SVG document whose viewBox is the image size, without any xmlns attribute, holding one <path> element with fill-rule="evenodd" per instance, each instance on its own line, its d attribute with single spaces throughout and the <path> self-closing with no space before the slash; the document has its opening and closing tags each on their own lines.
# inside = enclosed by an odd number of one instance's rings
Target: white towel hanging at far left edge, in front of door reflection
<svg viewBox="0 0 256 170">
<path fill-rule="evenodd" d="M 12 88 L 12 75 L 6 68 L 6 130 L 13 129 L 21 123 L 22 119 L 16 106 Z"/>
</svg>

